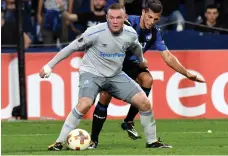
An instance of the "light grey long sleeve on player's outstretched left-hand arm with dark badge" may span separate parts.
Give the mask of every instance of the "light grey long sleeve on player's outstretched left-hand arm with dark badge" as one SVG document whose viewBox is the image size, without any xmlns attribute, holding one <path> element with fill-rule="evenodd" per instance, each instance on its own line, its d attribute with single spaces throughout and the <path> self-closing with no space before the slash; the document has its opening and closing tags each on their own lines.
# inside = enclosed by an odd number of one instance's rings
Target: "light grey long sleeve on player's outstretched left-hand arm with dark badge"
<svg viewBox="0 0 228 156">
<path fill-rule="evenodd" d="M 88 28 L 81 37 L 75 39 L 68 46 L 63 48 L 60 52 L 58 52 L 55 57 L 48 63 L 50 68 L 54 68 L 57 63 L 67 58 L 70 54 L 75 51 L 85 50 L 94 45 L 96 41 L 96 34 L 93 34 L 94 30 Z"/>
</svg>

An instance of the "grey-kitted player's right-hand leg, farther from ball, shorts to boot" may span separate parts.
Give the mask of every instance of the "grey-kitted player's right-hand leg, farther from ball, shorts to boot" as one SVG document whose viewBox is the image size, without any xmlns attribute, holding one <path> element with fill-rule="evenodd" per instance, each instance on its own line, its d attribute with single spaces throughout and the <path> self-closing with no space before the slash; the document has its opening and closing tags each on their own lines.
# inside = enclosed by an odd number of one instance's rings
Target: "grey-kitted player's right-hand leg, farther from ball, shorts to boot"
<svg viewBox="0 0 228 156">
<path fill-rule="evenodd" d="M 107 92 L 114 97 L 133 104 L 139 109 L 140 121 L 144 129 L 148 148 L 171 148 L 157 140 L 156 124 L 152 111 L 152 103 L 140 86 L 125 73 L 120 73 L 108 79 L 112 87 Z"/>
</svg>

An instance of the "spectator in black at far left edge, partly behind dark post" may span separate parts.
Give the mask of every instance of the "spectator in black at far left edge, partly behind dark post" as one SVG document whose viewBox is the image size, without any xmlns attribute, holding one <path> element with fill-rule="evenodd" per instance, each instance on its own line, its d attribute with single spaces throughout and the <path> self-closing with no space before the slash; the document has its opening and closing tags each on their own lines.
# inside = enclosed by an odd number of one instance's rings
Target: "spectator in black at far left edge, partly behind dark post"
<svg viewBox="0 0 228 156">
<path fill-rule="evenodd" d="M 17 45 L 18 40 L 18 31 L 17 31 L 17 25 L 15 21 L 5 21 L 4 20 L 4 8 L 1 9 L 1 39 L 2 45 Z M 24 33 L 24 46 L 25 49 L 29 47 L 31 43 L 30 38 L 26 33 Z"/>
</svg>

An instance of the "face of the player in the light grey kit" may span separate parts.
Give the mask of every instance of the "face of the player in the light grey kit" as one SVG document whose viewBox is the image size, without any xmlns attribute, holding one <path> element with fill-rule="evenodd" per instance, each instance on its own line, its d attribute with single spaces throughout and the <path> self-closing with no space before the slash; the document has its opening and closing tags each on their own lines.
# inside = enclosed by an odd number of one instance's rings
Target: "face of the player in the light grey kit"
<svg viewBox="0 0 228 156">
<path fill-rule="evenodd" d="M 121 32 L 123 29 L 123 24 L 125 19 L 126 19 L 126 13 L 123 9 L 108 10 L 107 21 L 109 23 L 109 29 L 111 32 L 113 33 Z"/>
</svg>

